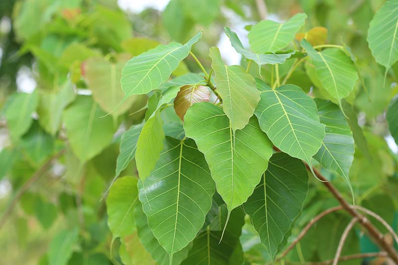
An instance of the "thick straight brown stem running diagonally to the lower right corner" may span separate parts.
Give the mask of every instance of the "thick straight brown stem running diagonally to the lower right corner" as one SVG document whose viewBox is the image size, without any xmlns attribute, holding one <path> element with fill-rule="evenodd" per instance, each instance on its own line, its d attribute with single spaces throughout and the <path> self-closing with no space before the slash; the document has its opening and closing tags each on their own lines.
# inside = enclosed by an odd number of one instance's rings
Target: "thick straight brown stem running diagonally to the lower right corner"
<svg viewBox="0 0 398 265">
<path fill-rule="evenodd" d="M 305 167 L 309 170 L 309 166 L 305 163 Z M 313 171 L 320 180 L 324 180 L 322 182 L 327 189 L 333 194 L 333 196 L 338 200 L 344 210 L 346 210 L 352 217 L 358 218 L 358 222 L 368 231 L 369 235 L 373 239 L 373 241 L 379 245 L 382 249 L 384 249 L 390 258 L 398 264 L 398 254 L 393 249 L 393 247 L 384 239 L 383 234 L 371 223 L 369 220 L 360 214 L 352 205 L 350 205 L 340 194 L 340 192 L 329 182 L 325 177 L 320 174 L 319 171 L 313 168 Z"/>
</svg>

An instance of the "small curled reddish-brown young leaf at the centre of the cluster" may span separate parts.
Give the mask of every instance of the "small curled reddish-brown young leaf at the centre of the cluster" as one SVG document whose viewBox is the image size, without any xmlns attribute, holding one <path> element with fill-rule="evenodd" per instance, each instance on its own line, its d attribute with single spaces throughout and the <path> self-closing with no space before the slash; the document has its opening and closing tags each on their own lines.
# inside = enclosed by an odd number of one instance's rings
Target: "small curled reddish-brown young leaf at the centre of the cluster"
<svg viewBox="0 0 398 265">
<path fill-rule="evenodd" d="M 190 106 L 198 102 L 208 102 L 210 93 L 207 87 L 198 85 L 187 85 L 180 88 L 174 99 L 174 110 L 176 114 L 184 121 L 184 115 Z"/>
</svg>

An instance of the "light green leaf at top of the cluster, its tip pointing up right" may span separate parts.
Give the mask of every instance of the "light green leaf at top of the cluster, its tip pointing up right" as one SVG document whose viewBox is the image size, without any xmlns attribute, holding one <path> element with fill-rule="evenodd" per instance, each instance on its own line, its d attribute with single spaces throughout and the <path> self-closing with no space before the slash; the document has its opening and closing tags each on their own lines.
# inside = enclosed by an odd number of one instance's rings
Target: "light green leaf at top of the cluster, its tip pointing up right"
<svg viewBox="0 0 398 265">
<path fill-rule="evenodd" d="M 254 25 L 249 34 L 250 47 L 255 53 L 277 52 L 285 48 L 295 38 L 304 25 L 307 15 L 298 13 L 285 23 L 262 20 Z"/>
</svg>

